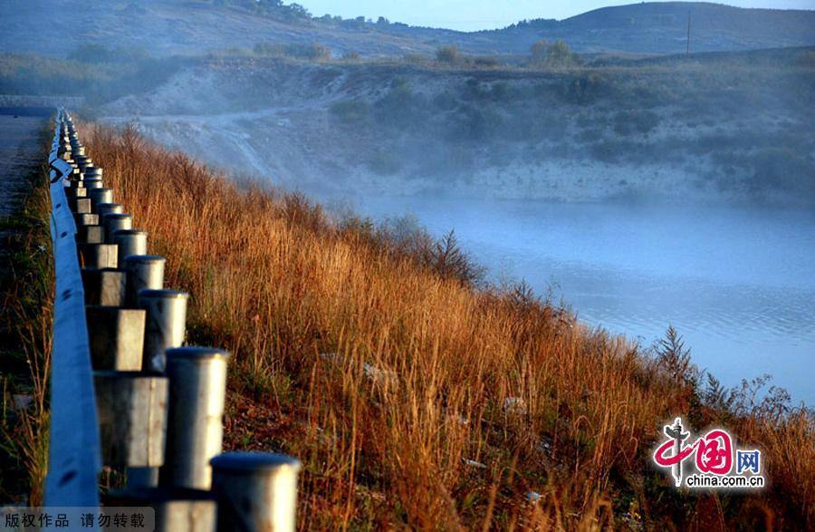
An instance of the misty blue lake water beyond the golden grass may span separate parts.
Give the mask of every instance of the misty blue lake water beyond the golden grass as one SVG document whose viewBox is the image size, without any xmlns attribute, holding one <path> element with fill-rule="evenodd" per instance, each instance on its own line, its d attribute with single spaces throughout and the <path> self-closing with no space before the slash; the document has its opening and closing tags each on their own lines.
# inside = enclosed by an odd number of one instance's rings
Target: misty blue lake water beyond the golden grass
<svg viewBox="0 0 815 532">
<path fill-rule="evenodd" d="M 650 344 L 673 324 L 725 384 L 763 373 L 815 404 L 815 213 L 665 205 L 352 198 L 455 229 L 493 280 L 551 288 L 589 324 Z"/>
</svg>

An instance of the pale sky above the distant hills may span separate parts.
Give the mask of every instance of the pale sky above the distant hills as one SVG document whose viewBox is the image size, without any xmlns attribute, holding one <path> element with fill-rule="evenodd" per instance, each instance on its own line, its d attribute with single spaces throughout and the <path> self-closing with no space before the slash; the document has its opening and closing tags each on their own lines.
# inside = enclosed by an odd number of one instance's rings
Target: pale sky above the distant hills
<svg viewBox="0 0 815 532">
<path fill-rule="evenodd" d="M 287 4 L 289 1 L 287 0 Z M 606 5 L 636 4 L 618 0 L 293 0 L 313 15 L 380 15 L 391 22 L 473 31 L 503 27 L 523 19 L 568 18 Z M 815 0 L 730 0 L 741 7 L 815 9 Z"/>
</svg>

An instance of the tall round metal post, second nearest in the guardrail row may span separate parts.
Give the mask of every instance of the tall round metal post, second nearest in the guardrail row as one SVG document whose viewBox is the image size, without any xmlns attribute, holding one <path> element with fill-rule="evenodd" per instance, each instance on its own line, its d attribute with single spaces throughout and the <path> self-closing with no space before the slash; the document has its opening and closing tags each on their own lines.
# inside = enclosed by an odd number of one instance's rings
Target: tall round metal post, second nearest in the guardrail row
<svg viewBox="0 0 815 532">
<path fill-rule="evenodd" d="M 209 489 L 209 460 L 221 452 L 229 354 L 211 347 L 167 351 L 170 382 L 167 455 L 162 486 Z"/>
</svg>

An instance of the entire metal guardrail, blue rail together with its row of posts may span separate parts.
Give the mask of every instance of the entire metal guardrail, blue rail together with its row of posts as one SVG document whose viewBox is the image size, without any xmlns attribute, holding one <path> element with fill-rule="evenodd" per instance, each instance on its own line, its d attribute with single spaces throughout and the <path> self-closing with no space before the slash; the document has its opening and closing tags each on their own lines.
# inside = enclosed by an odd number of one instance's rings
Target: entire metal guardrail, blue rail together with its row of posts
<svg viewBox="0 0 815 532">
<path fill-rule="evenodd" d="M 183 346 L 187 294 L 59 110 L 51 164 L 52 421 L 45 504 L 149 506 L 158 530 L 293 530 L 300 462 L 222 453 L 229 358 Z M 102 466 L 125 488 L 100 500 Z"/>
</svg>

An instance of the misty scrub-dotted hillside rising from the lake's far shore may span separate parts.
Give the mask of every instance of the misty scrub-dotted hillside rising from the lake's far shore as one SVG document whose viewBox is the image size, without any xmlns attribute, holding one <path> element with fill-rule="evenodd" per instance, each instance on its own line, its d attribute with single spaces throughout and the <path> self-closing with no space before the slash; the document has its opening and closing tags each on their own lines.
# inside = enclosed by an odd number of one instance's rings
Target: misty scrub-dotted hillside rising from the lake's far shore
<svg viewBox="0 0 815 532">
<path fill-rule="evenodd" d="M 94 108 L 287 188 L 815 203 L 815 49 L 568 70 L 199 63 Z"/>
</svg>

